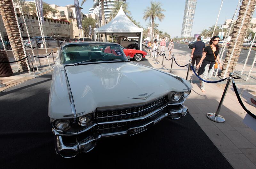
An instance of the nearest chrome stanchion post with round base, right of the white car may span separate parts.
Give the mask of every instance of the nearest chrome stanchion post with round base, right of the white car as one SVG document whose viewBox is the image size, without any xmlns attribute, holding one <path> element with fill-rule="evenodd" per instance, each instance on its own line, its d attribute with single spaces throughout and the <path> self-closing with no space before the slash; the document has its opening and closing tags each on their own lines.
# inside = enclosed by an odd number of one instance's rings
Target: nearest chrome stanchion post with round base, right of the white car
<svg viewBox="0 0 256 169">
<path fill-rule="evenodd" d="M 214 122 L 218 122 L 218 123 L 224 123 L 225 122 L 225 118 L 223 116 L 219 115 L 219 113 L 220 113 L 220 108 L 222 106 L 222 103 L 223 103 L 223 101 L 225 99 L 225 96 L 226 96 L 226 94 L 228 92 L 228 87 L 230 85 L 230 82 L 233 80 L 233 76 L 234 76 L 234 73 L 231 72 L 229 74 L 229 78 L 228 78 L 226 87 L 224 89 L 224 92 L 222 94 L 222 97 L 220 99 L 220 103 L 219 103 L 219 106 L 217 108 L 216 113 L 207 113 L 207 115 L 206 115 L 210 120 L 212 120 Z"/>
</svg>

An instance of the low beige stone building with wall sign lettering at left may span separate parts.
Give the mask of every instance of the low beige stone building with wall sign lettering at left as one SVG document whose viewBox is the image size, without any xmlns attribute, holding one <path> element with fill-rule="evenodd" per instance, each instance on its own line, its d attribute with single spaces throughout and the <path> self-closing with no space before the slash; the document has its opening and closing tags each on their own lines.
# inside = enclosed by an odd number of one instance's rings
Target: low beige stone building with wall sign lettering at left
<svg viewBox="0 0 256 169">
<path fill-rule="evenodd" d="M 18 14 L 18 21 L 22 24 L 22 37 L 28 37 L 23 18 Z M 30 37 L 41 36 L 38 19 L 36 16 L 25 15 L 25 21 L 28 27 L 28 32 Z M 44 18 L 44 36 L 50 37 L 60 37 L 60 38 L 70 38 L 71 33 L 73 32 L 72 24 L 68 21 L 47 19 Z M 4 37 L 7 37 L 7 33 L 4 27 L 4 22 L 2 16 L 0 16 L 0 30 Z"/>
</svg>

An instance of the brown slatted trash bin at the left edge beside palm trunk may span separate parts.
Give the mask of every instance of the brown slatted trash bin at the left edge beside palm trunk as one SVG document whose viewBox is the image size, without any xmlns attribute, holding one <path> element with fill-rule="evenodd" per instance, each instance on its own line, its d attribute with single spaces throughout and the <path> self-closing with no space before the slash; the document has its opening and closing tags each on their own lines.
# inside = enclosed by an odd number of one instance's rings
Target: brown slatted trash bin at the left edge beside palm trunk
<svg viewBox="0 0 256 169">
<path fill-rule="evenodd" d="M 0 51 L 0 61 L 9 62 L 6 51 Z M 0 63 L 0 77 L 8 77 L 12 74 L 13 73 L 10 63 Z"/>
</svg>

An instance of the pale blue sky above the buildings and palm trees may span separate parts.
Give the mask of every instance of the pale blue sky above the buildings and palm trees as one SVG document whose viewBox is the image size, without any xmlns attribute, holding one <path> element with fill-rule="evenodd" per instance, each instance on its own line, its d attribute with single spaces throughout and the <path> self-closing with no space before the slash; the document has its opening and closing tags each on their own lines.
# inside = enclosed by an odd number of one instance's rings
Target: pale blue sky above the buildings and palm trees
<svg viewBox="0 0 256 169">
<path fill-rule="evenodd" d="M 66 6 L 68 4 L 74 4 L 73 0 L 43 0 L 48 4 L 56 4 L 59 6 Z M 158 29 L 167 32 L 171 35 L 171 38 L 176 36 L 180 37 L 182 20 L 185 9 L 186 0 L 153 0 L 155 2 L 161 2 L 162 8 L 165 10 L 163 14 L 165 18 L 162 22 L 156 19 L 156 23 L 159 24 Z M 79 0 L 81 5 L 82 0 Z M 131 12 L 131 16 L 137 22 L 140 22 L 144 28 L 148 25 L 148 20 L 143 19 L 144 10 L 147 6 L 150 7 L 150 0 L 126 0 L 128 4 L 128 10 Z M 220 17 L 217 24 L 224 24 L 225 19 L 232 19 L 238 0 L 224 0 L 222 9 L 220 11 Z M 84 14 L 88 13 L 89 8 L 92 8 L 93 0 L 87 0 L 81 7 Z M 220 10 L 221 0 L 197 0 L 195 18 L 193 23 L 193 28 L 191 36 L 194 34 L 200 34 L 203 29 L 209 29 L 218 17 Z M 239 10 L 239 9 L 238 9 Z M 256 13 L 256 12 L 255 12 Z M 253 18 L 256 14 L 253 14 Z M 236 13 L 236 16 L 238 12 Z"/>
</svg>

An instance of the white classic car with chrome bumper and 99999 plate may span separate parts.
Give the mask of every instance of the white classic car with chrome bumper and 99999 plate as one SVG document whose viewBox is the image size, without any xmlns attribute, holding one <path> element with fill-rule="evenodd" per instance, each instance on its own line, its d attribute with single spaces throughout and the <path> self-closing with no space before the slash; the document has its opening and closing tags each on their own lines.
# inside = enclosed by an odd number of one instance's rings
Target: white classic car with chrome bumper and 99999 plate
<svg viewBox="0 0 256 169">
<path fill-rule="evenodd" d="M 48 115 L 55 149 L 64 158 L 89 152 L 100 138 L 134 135 L 165 117 L 179 119 L 188 81 L 131 62 L 106 42 L 61 46 L 52 75 Z"/>
</svg>

